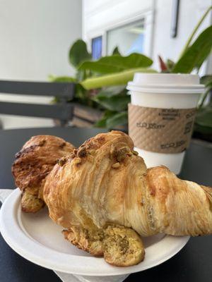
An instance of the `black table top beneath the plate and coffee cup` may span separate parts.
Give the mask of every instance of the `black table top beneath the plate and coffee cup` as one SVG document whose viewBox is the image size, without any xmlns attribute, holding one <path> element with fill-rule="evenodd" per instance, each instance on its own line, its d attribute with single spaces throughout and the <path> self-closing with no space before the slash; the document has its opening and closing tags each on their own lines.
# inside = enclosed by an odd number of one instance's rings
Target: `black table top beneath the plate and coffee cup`
<svg viewBox="0 0 212 282">
<path fill-rule="evenodd" d="M 11 176 L 13 157 L 31 136 L 57 135 L 77 147 L 84 140 L 100 132 L 103 130 L 90 128 L 31 128 L 0 131 L 0 188 L 15 188 Z M 192 143 L 187 150 L 180 177 L 204 185 L 212 185 L 212 148 Z M 209 282 L 212 281 L 211 256 L 211 236 L 191 238 L 175 257 L 153 269 L 131 274 L 126 278 L 126 282 L 154 279 L 163 282 Z M 0 281 L 59 282 L 60 279 L 53 271 L 28 262 L 13 252 L 0 235 Z"/>
</svg>

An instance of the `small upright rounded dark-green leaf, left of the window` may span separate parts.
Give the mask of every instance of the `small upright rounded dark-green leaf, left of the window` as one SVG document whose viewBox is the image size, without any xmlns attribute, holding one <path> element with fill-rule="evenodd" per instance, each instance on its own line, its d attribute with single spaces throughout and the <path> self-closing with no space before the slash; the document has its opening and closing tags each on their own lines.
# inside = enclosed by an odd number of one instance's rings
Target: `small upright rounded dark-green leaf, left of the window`
<svg viewBox="0 0 212 282">
<path fill-rule="evenodd" d="M 83 61 L 91 60 L 92 56 L 88 53 L 86 42 L 78 39 L 73 43 L 69 51 L 69 62 L 71 65 L 78 67 Z"/>
</svg>

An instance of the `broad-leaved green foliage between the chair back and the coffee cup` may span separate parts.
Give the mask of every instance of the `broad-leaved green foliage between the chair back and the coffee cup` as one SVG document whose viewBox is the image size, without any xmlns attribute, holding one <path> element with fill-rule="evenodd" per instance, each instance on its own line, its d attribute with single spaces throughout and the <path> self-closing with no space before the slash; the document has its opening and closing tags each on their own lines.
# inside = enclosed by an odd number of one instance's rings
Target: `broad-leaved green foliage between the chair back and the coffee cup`
<svg viewBox="0 0 212 282">
<path fill-rule="evenodd" d="M 155 72 L 153 61 L 143 54 L 122 56 L 117 48 L 111 56 L 92 61 L 86 43 L 78 39 L 69 51 L 69 62 L 76 69 L 74 77 L 49 78 L 54 82 L 75 82 L 76 94 L 72 102 L 86 104 L 103 111 L 102 118 L 95 126 L 114 128 L 127 123 L 127 105 L 130 97 L 126 83 L 134 73 Z M 54 102 L 59 102 L 58 98 Z"/>
</svg>

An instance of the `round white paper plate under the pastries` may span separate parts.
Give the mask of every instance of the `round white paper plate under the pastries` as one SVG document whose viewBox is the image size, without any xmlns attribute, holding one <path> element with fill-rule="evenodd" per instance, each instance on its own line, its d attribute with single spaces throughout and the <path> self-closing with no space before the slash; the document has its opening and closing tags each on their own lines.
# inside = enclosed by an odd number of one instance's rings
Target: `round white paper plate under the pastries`
<svg viewBox="0 0 212 282">
<path fill-rule="evenodd" d="M 30 262 L 69 274 L 113 276 L 142 271 L 170 259 L 189 240 L 188 236 L 161 234 L 143 238 L 144 261 L 135 266 L 116 267 L 78 250 L 64 240 L 61 230 L 61 226 L 49 219 L 47 208 L 37 214 L 21 212 L 19 189 L 14 190 L 1 207 L 0 231 L 13 250 Z"/>
</svg>

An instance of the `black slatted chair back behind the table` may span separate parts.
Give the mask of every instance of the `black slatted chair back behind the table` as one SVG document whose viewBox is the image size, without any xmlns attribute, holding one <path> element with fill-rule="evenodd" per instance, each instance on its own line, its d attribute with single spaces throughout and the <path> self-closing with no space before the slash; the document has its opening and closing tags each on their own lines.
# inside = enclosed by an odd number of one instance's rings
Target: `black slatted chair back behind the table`
<svg viewBox="0 0 212 282">
<path fill-rule="evenodd" d="M 59 98 L 57 104 L 25 104 L 0 102 L 0 114 L 53 118 L 66 125 L 73 118 L 73 105 L 67 100 L 73 98 L 74 83 L 71 82 L 23 82 L 0 80 L 0 93 L 53 96 Z M 1 99 L 1 97 L 0 97 Z"/>
</svg>

